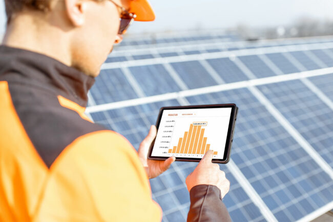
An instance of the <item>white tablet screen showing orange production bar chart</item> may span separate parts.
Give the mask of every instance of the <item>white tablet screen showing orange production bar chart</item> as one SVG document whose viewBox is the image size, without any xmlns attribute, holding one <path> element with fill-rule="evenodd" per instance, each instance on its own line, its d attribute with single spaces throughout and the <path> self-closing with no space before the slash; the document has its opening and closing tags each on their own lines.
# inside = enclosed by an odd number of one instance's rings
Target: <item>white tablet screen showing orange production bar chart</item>
<svg viewBox="0 0 333 222">
<path fill-rule="evenodd" d="M 231 108 L 164 110 L 152 156 L 223 158 Z"/>
</svg>

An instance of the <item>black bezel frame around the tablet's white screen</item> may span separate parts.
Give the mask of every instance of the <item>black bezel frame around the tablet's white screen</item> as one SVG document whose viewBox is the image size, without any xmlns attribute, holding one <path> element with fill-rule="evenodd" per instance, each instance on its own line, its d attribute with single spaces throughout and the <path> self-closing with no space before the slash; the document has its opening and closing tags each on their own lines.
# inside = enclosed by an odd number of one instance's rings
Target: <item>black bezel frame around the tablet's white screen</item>
<svg viewBox="0 0 333 222">
<path fill-rule="evenodd" d="M 235 132 L 235 124 L 237 119 L 237 113 L 238 113 L 238 107 L 236 104 L 213 104 L 213 105 L 196 105 L 196 106 L 173 106 L 173 107 L 162 107 L 159 111 L 157 121 L 156 121 L 156 128 L 158 131 L 162 114 L 164 110 L 177 110 L 177 109 L 207 109 L 207 108 L 232 108 L 231 114 L 230 114 L 230 120 L 229 120 L 229 126 L 226 136 L 226 143 L 224 148 L 224 155 L 223 159 L 213 158 L 213 163 L 220 163 L 220 164 L 226 164 L 230 160 L 230 154 L 231 154 L 231 148 L 233 143 L 233 137 Z M 153 140 L 149 152 L 148 152 L 148 159 L 154 159 L 154 160 L 165 160 L 168 159 L 168 156 L 152 156 L 153 147 L 155 144 L 155 139 Z M 201 158 L 186 158 L 186 157 L 176 157 L 176 161 L 185 161 L 185 162 L 200 162 Z"/>
</svg>

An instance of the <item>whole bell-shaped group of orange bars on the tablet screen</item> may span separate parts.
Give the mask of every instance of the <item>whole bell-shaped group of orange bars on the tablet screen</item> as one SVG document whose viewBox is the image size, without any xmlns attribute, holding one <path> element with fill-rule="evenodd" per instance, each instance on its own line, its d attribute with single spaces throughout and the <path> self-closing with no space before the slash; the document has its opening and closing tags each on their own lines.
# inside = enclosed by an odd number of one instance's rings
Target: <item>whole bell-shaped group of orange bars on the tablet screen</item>
<svg viewBox="0 0 333 222">
<path fill-rule="evenodd" d="M 178 145 L 169 149 L 168 153 L 205 154 L 211 147 L 207 144 L 207 137 L 203 137 L 205 129 L 202 126 L 190 125 L 189 131 L 178 139 Z M 217 151 L 214 152 L 217 155 Z"/>
</svg>

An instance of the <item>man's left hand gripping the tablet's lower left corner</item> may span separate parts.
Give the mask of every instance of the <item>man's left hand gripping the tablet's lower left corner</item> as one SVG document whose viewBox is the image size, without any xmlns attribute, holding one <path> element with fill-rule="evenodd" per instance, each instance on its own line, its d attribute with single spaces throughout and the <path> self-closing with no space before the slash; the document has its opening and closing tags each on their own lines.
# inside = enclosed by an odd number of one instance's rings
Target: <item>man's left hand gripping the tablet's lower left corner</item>
<svg viewBox="0 0 333 222">
<path fill-rule="evenodd" d="M 170 165 L 176 160 L 176 157 L 174 156 L 171 156 L 165 160 L 147 159 L 148 151 L 150 145 L 156 137 L 156 132 L 156 127 L 151 126 L 148 135 L 143 139 L 138 150 L 141 163 L 150 179 L 160 175 L 165 170 L 168 170 Z"/>
</svg>

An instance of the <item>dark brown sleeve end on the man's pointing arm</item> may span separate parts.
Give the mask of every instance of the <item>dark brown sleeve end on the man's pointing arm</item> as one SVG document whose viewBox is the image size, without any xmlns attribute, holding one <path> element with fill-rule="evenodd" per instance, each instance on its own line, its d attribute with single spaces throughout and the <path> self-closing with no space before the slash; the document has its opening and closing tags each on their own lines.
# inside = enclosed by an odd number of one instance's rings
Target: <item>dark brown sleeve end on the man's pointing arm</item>
<svg viewBox="0 0 333 222">
<path fill-rule="evenodd" d="M 220 189 L 213 185 L 193 187 L 190 191 L 191 206 L 188 222 L 231 222 L 220 193 Z"/>
</svg>

